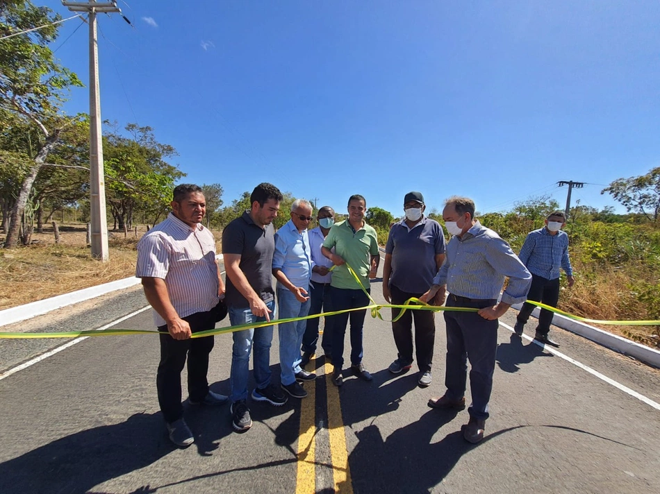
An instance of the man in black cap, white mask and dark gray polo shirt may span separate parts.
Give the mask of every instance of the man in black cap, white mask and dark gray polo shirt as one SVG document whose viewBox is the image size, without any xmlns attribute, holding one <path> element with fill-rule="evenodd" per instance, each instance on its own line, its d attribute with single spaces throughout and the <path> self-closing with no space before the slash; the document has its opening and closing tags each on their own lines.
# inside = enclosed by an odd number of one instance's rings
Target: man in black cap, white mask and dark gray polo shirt
<svg viewBox="0 0 660 494">
<path fill-rule="evenodd" d="M 424 216 L 421 192 L 409 192 L 404 197 L 404 218 L 390 228 L 383 266 L 383 296 L 388 303 L 403 304 L 411 297 L 419 298 L 431 288 L 433 278 L 445 260 L 445 235 L 437 221 Z M 392 309 L 392 318 L 401 309 Z M 404 312 L 392 323 L 394 341 L 399 355 L 390 364 L 393 374 L 408 371 L 413 364 L 413 318 L 415 347 L 420 368 L 419 384 L 431 384 L 433 346 L 436 337 L 434 313 L 424 310 Z"/>
</svg>

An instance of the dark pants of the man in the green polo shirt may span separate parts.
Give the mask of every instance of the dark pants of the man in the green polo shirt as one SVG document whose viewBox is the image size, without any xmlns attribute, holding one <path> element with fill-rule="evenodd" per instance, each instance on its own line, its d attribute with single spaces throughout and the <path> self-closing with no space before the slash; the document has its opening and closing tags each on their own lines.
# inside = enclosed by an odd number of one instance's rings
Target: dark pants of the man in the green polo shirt
<svg viewBox="0 0 660 494">
<path fill-rule="evenodd" d="M 369 298 L 362 290 L 330 287 L 330 299 L 333 310 L 353 309 L 366 307 Z M 332 319 L 332 365 L 338 370 L 344 365 L 344 336 L 346 324 L 351 321 L 351 365 L 358 365 L 362 361 L 362 329 L 367 310 L 356 310 L 331 316 Z"/>
</svg>

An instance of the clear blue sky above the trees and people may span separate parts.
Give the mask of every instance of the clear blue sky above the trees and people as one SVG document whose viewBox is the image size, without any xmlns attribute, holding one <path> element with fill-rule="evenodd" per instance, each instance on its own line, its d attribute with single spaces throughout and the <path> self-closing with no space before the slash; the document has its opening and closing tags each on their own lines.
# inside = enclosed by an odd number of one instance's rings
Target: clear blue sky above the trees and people
<svg viewBox="0 0 660 494">
<path fill-rule="evenodd" d="M 419 190 L 429 208 L 461 194 L 490 212 L 563 205 L 556 182 L 575 180 L 589 185 L 573 201 L 600 208 L 618 206 L 609 182 L 660 166 L 654 0 L 119 6 L 133 28 L 99 16 L 102 117 L 153 127 L 225 203 L 268 181 L 340 211 L 363 194 L 399 215 Z M 79 24 L 53 46 L 87 84 Z M 87 111 L 87 89 L 65 109 Z"/>
</svg>

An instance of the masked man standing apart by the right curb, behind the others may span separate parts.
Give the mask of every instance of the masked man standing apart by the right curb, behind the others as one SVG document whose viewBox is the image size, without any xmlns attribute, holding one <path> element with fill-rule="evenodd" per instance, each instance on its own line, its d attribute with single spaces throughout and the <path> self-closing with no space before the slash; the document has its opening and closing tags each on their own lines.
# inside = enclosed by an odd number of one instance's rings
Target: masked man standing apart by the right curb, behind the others
<svg viewBox="0 0 660 494">
<path fill-rule="evenodd" d="M 559 302 L 560 268 L 566 272 L 568 287 L 572 287 L 575 282 L 568 259 L 568 235 L 561 231 L 564 225 L 566 225 L 566 216 L 561 211 L 555 211 L 545 219 L 545 226 L 529 232 L 525 244 L 522 244 L 519 257 L 532 276 L 527 300 L 556 307 Z M 529 303 L 522 305 L 513 327 L 518 336 L 522 334 L 522 328 L 534 307 Z M 553 316 L 553 312 L 541 309 L 534 339 L 546 345 L 559 347 L 559 343 L 548 337 Z"/>
</svg>

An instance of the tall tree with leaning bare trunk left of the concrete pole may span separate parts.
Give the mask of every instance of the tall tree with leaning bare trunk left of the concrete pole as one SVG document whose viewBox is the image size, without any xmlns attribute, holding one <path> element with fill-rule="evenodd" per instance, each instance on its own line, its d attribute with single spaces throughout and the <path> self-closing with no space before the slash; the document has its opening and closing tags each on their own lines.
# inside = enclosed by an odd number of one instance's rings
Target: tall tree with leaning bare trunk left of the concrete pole
<svg viewBox="0 0 660 494">
<path fill-rule="evenodd" d="M 60 19 L 51 9 L 36 7 L 30 1 L 0 2 L 0 37 L 46 25 L 0 42 L 0 110 L 39 130 L 35 155 L 13 204 L 6 248 L 17 245 L 20 219 L 33 183 L 70 123 L 58 114 L 60 106 L 70 87 L 82 86 L 78 76 L 60 65 L 49 48 L 58 34 L 58 26 L 52 23 Z"/>
</svg>

